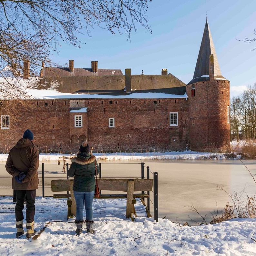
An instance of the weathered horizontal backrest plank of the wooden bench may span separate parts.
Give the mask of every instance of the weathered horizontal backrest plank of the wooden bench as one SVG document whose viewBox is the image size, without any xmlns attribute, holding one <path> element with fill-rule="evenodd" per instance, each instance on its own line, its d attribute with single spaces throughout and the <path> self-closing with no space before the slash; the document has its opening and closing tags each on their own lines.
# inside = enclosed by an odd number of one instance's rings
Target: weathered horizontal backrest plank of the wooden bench
<svg viewBox="0 0 256 256">
<path fill-rule="evenodd" d="M 150 191 L 153 187 L 153 179 L 133 179 L 133 191 Z M 52 180 L 52 191 L 70 191 L 70 182 L 73 180 Z M 127 182 L 129 179 L 98 179 L 100 190 L 127 192 Z"/>
</svg>

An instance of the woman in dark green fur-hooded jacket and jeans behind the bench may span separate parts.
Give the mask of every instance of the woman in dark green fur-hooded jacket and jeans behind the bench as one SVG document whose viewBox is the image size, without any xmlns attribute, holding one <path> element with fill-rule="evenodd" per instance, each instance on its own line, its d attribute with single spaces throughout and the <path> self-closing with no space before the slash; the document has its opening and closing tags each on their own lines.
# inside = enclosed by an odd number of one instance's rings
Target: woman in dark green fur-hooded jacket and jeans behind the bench
<svg viewBox="0 0 256 256">
<path fill-rule="evenodd" d="M 68 176 L 74 177 L 73 191 L 76 202 L 76 234 L 80 235 L 83 229 L 83 210 L 86 212 L 87 232 L 93 233 L 93 198 L 95 190 L 95 167 L 96 175 L 99 173 L 99 166 L 96 157 L 89 153 L 89 145 L 83 143 L 77 156 L 71 160 Z"/>
</svg>

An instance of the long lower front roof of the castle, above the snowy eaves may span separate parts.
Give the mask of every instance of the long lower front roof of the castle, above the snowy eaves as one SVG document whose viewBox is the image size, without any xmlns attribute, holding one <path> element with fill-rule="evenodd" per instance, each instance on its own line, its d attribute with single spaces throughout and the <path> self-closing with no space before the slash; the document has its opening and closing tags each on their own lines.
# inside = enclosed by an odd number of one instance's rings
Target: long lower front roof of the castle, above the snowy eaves
<svg viewBox="0 0 256 256">
<path fill-rule="evenodd" d="M 51 88 L 62 93 L 89 93 L 125 95 L 125 75 L 109 76 L 66 76 L 66 77 L 40 77 L 37 89 Z M 174 75 L 131 75 L 132 92 L 166 93 L 183 95 L 186 92 L 186 84 Z"/>
</svg>

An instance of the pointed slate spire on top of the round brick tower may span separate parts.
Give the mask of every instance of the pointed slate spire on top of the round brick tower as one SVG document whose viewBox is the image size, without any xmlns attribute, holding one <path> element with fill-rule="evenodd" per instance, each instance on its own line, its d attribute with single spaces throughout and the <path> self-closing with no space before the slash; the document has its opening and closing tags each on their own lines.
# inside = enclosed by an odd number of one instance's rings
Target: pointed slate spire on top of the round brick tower
<svg viewBox="0 0 256 256">
<path fill-rule="evenodd" d="M 196 62 L 194 77 L 201 77 L 202 75 L 209 75 L 209 56 L 213 54 L 214 61 L 214 76 L 222 76 L 221 69 L 217 60 L 214 44 L 212 41 L 212 34 L 207 22 L 204 27 L 203 38 Z"/>
</svg>

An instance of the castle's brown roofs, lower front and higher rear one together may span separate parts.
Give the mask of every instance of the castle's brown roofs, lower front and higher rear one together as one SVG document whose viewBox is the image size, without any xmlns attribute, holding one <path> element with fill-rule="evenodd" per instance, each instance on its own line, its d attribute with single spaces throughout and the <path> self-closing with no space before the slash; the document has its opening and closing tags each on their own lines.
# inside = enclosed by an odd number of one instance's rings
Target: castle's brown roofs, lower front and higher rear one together
<svg viewBox="0 0 256 256">
<path fill-rule="evenodd" d="M 74 68 L 74 60 L 69 60 L 69 67 L 66 68 L 44 67 L 43 65 L 41 78 L 36 85 L 37 89 L 54 86 L 55 90 L 62 93 L 127 95 L 124 89 L 127 84 L 131 93 L 154 92 L 184 95 L 186 92 L 186 84 L 171 73 L 168 75 L 131 75 L 128 72 L 123 75 L 120 69 L 98 69 L 97 66 L 98 62 L 92 61 L 92 68 Z M 127 82 L 127 79 L 130 82 Z"/>
</svg>

